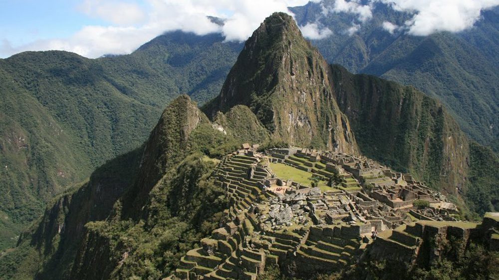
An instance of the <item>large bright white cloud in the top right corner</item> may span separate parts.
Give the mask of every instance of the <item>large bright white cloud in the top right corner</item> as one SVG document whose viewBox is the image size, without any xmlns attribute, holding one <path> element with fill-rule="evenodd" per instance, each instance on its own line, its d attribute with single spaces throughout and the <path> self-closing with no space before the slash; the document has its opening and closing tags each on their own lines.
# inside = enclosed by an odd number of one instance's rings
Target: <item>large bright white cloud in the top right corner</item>
<svg viewBox="0 0 499 280">
<path fill-rule="evenodd" d="M 408 33 L 426 36 L 439 31 L 459 32 L 472 27 L 482 10 L 499 0 L 381 0 L 397 11 L 414 13 L 405 22 Z"/>
</svg>

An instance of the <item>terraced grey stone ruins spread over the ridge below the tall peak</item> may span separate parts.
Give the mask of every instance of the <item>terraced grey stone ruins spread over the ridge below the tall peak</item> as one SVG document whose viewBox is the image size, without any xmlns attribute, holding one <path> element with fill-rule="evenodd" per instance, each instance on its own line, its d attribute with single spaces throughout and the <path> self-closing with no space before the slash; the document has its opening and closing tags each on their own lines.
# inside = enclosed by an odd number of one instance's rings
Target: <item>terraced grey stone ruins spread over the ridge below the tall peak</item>
<svg viewBox="0 0 499 280">
<path fill-rule="evenodd" d="M 330 186 L 279 178 L 269 162 L 309 172 Z M 414 263 L 425 236 L 454 236 L 464 244 L 486 236 L 489 247 L 499 249 L 497 214 L 480 227 L 450 222 L 457 219 L 456 208 L 445 196 L 367 158 L 300 148 L 259 153 L 245 144 L 212 176 L 232 202 L 228 222 L 182 257 L 169 279 L 255 280 L 270 265 L 296 275 L 330 272 L 366 254 Z M 415 200 L 430 207 L 417 209 Z"/>
</svg>

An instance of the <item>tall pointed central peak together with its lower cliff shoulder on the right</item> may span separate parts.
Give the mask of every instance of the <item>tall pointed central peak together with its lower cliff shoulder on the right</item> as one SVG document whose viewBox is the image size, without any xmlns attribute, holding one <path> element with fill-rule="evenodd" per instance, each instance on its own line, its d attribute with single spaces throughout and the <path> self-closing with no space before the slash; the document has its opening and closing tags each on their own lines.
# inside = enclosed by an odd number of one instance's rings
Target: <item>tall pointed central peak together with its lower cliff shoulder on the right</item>
<svg viewBox="0 0 499 280">
<path fill-rule="evenodd" d="M 286 14 L 272 14 L 254 31 L 204 111 L 213 117 L 240 104 L 273 140 L 353 154 L 360 148 L 448 193 L 465 186 L 469 143 L 440 103 L 412 87 L 330 67 Z"/>
</svg>

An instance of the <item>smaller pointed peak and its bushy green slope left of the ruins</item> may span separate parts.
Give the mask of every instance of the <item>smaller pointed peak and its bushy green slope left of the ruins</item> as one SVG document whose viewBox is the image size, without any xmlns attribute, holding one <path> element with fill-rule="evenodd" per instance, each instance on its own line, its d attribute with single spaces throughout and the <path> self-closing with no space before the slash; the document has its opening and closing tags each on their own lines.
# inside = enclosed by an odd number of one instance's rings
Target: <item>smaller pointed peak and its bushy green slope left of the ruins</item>
<svg viewBox="0 0 499 280">
<path fill-rule="evenodd" d="M 214 129 L 189 97 L 178 97 L 145 145 L 53 201 L 38 226 L 0 257 L 0 279 L 169 275 L 224 217 L 224 190 L 208 179 L 217 161 L 207 158 L 241 145 L 228 132 Z"/>
</svg>

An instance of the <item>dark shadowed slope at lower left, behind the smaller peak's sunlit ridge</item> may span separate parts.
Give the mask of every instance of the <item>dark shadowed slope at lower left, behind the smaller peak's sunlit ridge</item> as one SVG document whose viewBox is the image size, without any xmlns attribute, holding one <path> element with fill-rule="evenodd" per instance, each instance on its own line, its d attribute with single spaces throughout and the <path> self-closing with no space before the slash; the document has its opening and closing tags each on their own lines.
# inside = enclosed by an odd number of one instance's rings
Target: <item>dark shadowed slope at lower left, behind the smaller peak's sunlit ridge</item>
<svg viewBox="0 0 499 280">
<path fill-rule="evenodd" d="M 85 245 L 85 224 L 111 213 L 138 172 L 142 149 L 106 162 L 87 182 L 55 198 L 38 223 L 21 235 L 12 255 L 6 256 L 15 259 L 15 265 L 1 262 L 0 270 L 8 265 L 13 274 L 0 278 L 70 279 L 76 251 Z M 33 253 L 26 257 L 27 252 Z"/>
</svg>

